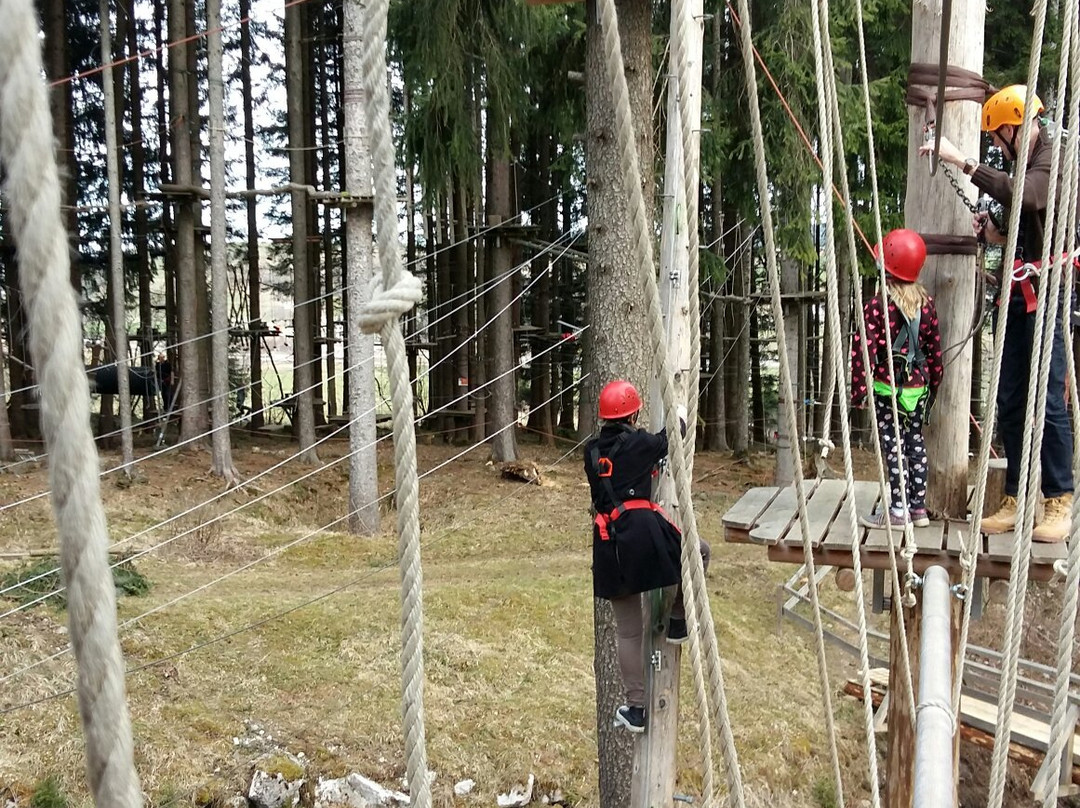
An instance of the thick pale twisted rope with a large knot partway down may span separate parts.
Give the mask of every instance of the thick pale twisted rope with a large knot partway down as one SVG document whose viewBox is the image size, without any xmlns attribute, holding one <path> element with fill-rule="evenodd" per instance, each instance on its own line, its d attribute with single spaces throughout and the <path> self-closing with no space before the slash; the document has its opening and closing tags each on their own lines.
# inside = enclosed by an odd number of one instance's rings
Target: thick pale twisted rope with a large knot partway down
<svg viewBox="0 0 1080 808">
<path fill-rule="evenodd" d="M 423 718 L 423 571 L 420 567 L 420 484 L 416 471 L 413 388 L 402 336 L 401 314 L 416 302 L 418 282 L 403 269 L 397 245 L 397 191 L 394 145 L 387 90 L 387 10 L 373 0 L 364 19 L 364 89 L 368 96 L 374 163 L 375 223 L 383 289 L 360 313 L 365 331 L 379 329 L 387 352 L 394 423 L 399 553 L 402 576 L 402 716 L 410 804 L 431 805 Z"/>
</svg>

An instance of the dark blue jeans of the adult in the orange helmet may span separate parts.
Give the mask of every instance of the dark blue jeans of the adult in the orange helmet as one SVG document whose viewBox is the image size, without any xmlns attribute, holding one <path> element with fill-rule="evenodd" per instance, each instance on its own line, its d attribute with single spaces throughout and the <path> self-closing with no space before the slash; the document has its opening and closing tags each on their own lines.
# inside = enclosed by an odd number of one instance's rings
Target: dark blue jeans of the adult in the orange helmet
<svg viewBox="0 0 1080 808">
<path fill-rule="evenodd" d="M 1024 298 L 1009 302 L 1009 322 L 1001 353 L 1001 378 L 998 383 L 998 434 L 1005 447 L 1009 468 L 1005 494 L 1015 497 L 1020 489 L 1020 463 L 1029 373 L 1039 373 L 1041 342 L 1035 335 L 1035 312 L 1025 311 Z M 1061 312 L 1050 354 L 1047 383 L 1047 420 L 1042 434 L 1042 495 L 1059 497 L 1072 491 L 1072 426 L 1065 398 L 1065 335 Z"/>
</svg>

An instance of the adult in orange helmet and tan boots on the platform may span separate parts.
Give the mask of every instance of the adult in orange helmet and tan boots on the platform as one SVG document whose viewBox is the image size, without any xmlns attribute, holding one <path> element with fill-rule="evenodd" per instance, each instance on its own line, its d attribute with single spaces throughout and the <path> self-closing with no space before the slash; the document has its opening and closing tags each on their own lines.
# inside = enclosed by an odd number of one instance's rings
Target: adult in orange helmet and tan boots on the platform
<svg viewBox="0 0 1080 808">
<path fill-rule="evenodd" d="M 1013 84 L 993 95 L 983 106 L 982 129 L 989 133 L 995 146 L 1005 159 L 1015 162 L 1020 152 L 1018 138 L 1024 123 L 1027 87 Z M 1051 134 L 1038 115 L 1042 102 L 1035 98 L 1031 115 L 1030 143 L 1027 174 L 1018 200 L 1020 237 L 1012 264 L 1012 281 L 1002 294 L 1009 295 L 1009 321 L 1005 325 L 1004 349 L 1001 354 L 1001 376 L 998 383 L 998 434 L 1004 444 L 1008 469 L 1005 471 L 1005 498 L 997 513 L 984 519 L 983 531 L 999 534 L 1016 525 L 1016 493 L 1020 489 L 1020 466 L 1023 452 L 1024 413 L 1027 407 L 1028 378 L 1032 367 L 1039 366 L 1039 354 L 1045 347 L 1041 335 L 1035 334 L 1037 272 L 1045 244 L 1047 204 L 1050 198 Z M 921 152 L 928 152 L 929 146 Z M 942 138 L 939 157 L 963 170 L 971 181 L 1007 208 L 1017 202 L 1013 178 L 1003 171 L 982 165 L 975 158 L 966 158 L 946 138 Z M 1064 162 L 1062 163 L 1064 167 Z M 1061 177 L 1058 188 L 1062 188 Z M 1058 199 L 1057 210 L 1066 200 Z M 974 227 L 986 241 L 1004 244 L 1005 237 L 988 214 L 975 216 Z M 1009 264 L 1005 261 L 1005 269 Z M 1034 269 L 1036 273 L 1031 273 Z M 1009 275 L 1007 274 L 1008 279 Z M 1016 280 L 1018 279 L 1018 280 Z M 1071 295 L 1063 294 L 1055 314 L 1057 327 L 1050 346 L 1050 379 L 1047 385 L 1045 427 L 1042 436 L 1042 495 L 1043 516 L 1031 534 L 1036 541 L 1063 541 L 1069 533 L 1072 510 L 1072 427 L 1069 422 L 1065 398 L 1065 336 L 1063 310 L 1069 311 Z"/>
</svg>

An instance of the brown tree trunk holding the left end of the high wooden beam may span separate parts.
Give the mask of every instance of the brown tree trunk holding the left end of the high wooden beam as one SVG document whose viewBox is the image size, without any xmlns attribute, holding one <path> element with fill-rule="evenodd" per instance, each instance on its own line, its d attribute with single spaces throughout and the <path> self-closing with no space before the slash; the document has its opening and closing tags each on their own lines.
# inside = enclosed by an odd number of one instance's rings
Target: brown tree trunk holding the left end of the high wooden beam
<svg viewBox="0 0 1080 808">
<path fill-rule="evenodd" d="M 168 39 L 176 43 L 168 51 L 168 100 L 172 110 L 173 180 L 190 186 L 192 153 L 190 130 L 189 48 L 187 42 L 187 0 L 170 0 Z M 180 358 L 180 441 L 195 441 L 206 430 L 205 404 L 199 395 L 202 374 L 198 342 L 198 281 L 195 266 L 195 217 L 198 202 L 179 198 L 176 203 L 176 323 Z"/>
</svg>

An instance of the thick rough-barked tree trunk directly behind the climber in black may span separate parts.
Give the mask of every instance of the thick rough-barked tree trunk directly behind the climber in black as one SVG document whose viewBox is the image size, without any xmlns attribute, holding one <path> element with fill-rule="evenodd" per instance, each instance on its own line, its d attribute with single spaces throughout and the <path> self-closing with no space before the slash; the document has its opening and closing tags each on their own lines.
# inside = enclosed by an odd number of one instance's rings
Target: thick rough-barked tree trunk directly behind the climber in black
<svg viewBox="0 0 1080 808">
<path fill-rule="evenodd" d="M 653 220 L 652 153 L 652 69 L 650 46 L 651 3 L 646 0 L 617 2 L 623 66 L 630 86 L 632 120 L 642 166 L 642 184 L 647 220 Z M 581 386 L 580 431 L 588 433 L 596 423 L 596 400 L 606 382 L 624 378 L 643 393 L 648 390 L 651 352 L 647 340 L 645 306 L 633 259 L 630 215 L 623 193 L 622 166 L 613 132 L 615 106 L 611 86 L 604 69 L 602 31 L 596 23 L 595 0 L 585 6 L 588 18 L 585 45 L 586 161 L 585 183 L 589 193 L 589 272 L 586 281 L 588 317 L 585 332 L 585 372 Z M 633 338 L 631 338 L 633 335 Z M 646 398 L 647 402 L 647 396 Z M 648 422 L 648 413 L 640 420 Z M 599 795 L 603 808 L 622 808 L 630 804 L 631 737 L 612 727 L 616 708 L 623 703 L 624 691 L 616 660 L 615 625 L 610 607 L 597 603 L 596 609 L 596 735 L 599 748 Z"/>
</svg>

